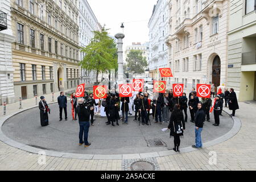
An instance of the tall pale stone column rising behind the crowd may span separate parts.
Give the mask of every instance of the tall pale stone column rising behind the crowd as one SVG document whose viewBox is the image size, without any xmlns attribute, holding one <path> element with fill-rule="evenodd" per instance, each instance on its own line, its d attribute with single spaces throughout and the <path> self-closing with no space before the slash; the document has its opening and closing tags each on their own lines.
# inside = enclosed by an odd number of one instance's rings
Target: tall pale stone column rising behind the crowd
<svg viewBox="0 0 256 182">
<path fill-rule="evenodd" d="M 115 34 L 115 38 L 118 39 L 117 46 L 117 55 L 118 55 L 118 84 L 122 84 L 123 81 L 123 38 L 125 34 L 118 33 Z"/>
</svg>

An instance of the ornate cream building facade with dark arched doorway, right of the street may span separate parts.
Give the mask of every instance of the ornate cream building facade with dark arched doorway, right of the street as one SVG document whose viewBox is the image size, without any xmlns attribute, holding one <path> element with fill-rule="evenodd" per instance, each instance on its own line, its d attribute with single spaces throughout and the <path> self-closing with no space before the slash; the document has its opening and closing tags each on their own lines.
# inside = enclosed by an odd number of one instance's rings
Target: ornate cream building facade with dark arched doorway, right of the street
<svg viewBox="0 0 256 182">
<path fill-rule="evenodd" d="M 168 66 L 173 78 L 167 85 L 183 83 L 185 90 L 197 84 L 227 85 L 229 1 L 171 0 Z"/>
</svg>

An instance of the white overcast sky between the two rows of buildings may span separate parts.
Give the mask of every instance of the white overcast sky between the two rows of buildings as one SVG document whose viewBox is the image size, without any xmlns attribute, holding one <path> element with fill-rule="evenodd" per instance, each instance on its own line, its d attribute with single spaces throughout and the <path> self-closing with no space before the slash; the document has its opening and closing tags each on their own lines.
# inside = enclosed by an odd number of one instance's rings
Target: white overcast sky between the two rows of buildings
<svg viewBox="0 0 256 182">
<path fill-rule="evenodd" d="M 110 35 L 122 32 L 124 22 L 124 49 L 133 42 L 147 42 L 147 24 L 157 0 L 87 0 L 98 22 L 110 28 Z"/>
</svg>

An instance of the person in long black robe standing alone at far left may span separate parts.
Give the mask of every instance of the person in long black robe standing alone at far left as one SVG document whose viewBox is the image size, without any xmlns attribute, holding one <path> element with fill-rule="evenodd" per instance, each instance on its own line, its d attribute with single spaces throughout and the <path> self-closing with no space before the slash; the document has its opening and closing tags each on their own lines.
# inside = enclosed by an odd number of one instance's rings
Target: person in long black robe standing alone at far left
<svg viewBox="0 0 256 182">
<path fill-rule="evenodd" d="M 48 118 L 48 112 L 49 107 L 46 102 L 46 98 L 44 96 L 40 97 L 41 101 L 39 102 L 39 110 L 40 110 L 40 122 L 41 126 L 47 126 L 49 125 L 49 118 Z"/>
</svg>

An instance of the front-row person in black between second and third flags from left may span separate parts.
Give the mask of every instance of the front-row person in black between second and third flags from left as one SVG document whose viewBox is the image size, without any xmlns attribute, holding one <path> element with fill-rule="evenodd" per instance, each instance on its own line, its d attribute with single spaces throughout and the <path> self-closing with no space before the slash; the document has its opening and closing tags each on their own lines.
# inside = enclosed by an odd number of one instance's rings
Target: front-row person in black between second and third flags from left
<svg viewBox="0 0 256 182">
<path fill-rule="evenodd" d="M 115 94 L 112 94 L 112 98 L 110 98 L 109 101 L 109 114 L 110 114 L 110 121 L 112 122 L 112 126 L 114 125 L 114 122 L 117 122 L 117 126 L 119 126 L 118 123 L 118 117 L 119 117 L 119 100 Z"/>
</svg>

